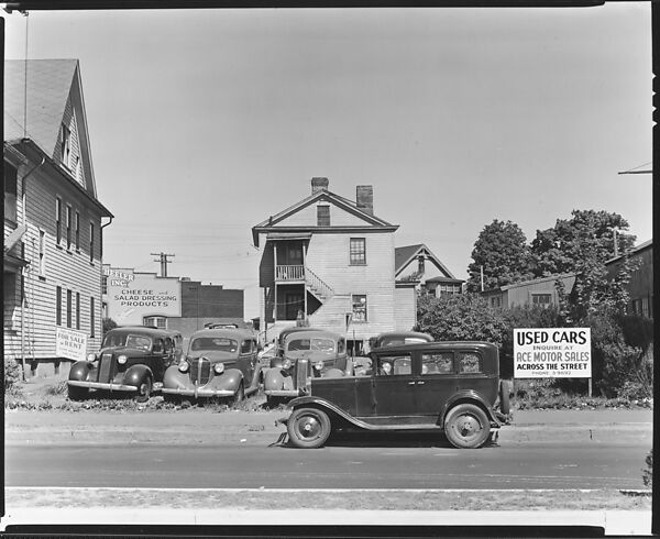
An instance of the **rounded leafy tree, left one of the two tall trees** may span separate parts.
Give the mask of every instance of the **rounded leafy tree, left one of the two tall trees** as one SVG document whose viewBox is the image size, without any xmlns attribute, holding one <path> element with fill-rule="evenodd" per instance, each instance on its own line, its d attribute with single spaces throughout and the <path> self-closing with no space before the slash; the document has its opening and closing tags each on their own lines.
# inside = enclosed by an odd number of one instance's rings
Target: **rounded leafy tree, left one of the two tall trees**
<svg viewBox="0 0 660 539">
<path fill-rule="evenodd" d="M 484 227 L 474 243 L 472 260 L 474 262 L 468 266 L 469 292 L 482 289 L 482 271 L 485 290 L 527 280 L 534 276 L 527 238 L 512 221 L 495 219 Z"/>
</svg>

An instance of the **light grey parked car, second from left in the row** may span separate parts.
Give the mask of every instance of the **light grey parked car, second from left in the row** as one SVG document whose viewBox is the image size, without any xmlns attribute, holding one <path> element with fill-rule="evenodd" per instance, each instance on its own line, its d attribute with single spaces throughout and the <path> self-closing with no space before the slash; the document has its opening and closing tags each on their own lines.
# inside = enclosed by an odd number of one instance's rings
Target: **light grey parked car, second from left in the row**
<svg viewBox="0 0 660 539">
<path fill-rule="evenodd" d="M 163 378 L 163 395 L 242 400 L 258 391 L 256 334 L 248 329 L 202 329 L 190 336 L 188 352 Z"/>
</svg>

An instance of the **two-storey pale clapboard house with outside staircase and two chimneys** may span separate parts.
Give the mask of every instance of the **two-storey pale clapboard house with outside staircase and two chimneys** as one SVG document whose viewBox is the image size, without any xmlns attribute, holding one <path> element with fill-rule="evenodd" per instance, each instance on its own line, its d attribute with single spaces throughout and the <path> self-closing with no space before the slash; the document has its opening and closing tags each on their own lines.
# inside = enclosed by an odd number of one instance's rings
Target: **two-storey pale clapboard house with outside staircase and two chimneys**
<svg viewBox="0 0 660 539">
<path fill-rule="evenodd" d="M 263 249 L 260 329 L 267 339 L 296 320 L 346 333 L 355 352 L 370 337 L 415 324 L 415 288 L 395 283 L 392 224 L 374 215 L 373 187 L 355 201 L 312 178 L 311 194 L 252 229 Z M 397 307 L 398 306 L 398 307 Z"/>
</svg>

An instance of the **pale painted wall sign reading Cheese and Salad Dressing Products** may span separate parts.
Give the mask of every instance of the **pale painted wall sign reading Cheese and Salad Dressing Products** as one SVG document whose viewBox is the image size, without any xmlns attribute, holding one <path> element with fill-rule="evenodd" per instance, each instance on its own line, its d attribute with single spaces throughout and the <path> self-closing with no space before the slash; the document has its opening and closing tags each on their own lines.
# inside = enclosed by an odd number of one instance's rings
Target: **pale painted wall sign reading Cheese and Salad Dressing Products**
<svg viewBox="0 0 660 539">
<path fill-rule="evenodd" d="M 180 317 L 182 284 L 178 277 L 106 267 L 108 316 L 119 326 L 141 326 L 145 317 Z"/>
</svg>

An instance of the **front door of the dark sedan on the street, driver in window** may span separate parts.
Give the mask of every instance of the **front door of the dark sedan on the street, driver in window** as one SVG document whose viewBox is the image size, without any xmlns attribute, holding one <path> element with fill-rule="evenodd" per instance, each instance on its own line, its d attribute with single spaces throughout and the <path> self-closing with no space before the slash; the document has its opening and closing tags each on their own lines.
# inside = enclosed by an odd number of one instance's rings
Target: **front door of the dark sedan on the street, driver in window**
<svg viewBox="0 0 660 539">
<path fill-rule="evenodd" d="M 385 353 L 375 356 L 372 386 L 377 417 L 415 416 L 413 353 Z"/>
</svg>

